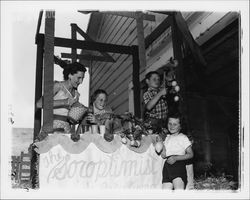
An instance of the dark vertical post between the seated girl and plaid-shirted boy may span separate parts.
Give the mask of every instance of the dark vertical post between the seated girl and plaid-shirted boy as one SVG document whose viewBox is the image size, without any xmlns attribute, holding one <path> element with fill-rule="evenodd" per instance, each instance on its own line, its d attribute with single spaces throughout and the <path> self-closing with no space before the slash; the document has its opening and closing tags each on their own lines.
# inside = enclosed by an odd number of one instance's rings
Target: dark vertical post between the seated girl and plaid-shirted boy
<svg viewBox="0 0 250 200">
<path fill-rule="evenodd" d="M 137 46 L 132 46 L 132 56 L 133 56 L 133 91 L 134 91 L 134 115 L 141 118 L 141 101 L 140 101 L 140 61 L 139 52 Z"/>
</svg>

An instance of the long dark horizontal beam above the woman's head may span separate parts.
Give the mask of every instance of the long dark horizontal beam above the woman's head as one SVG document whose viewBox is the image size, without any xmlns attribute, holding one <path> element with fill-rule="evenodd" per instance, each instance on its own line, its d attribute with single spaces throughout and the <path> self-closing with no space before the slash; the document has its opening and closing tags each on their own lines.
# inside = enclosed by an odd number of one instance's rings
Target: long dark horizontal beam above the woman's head
<svg viewBox="0 0 250 200">
<path fill-rule="evenodd" d="M 38 40 L 44 40 L 44 34 L 38 34 Z M 130 46 L 117 44 L 106 44 L 101 42 L 89 42 L 84 40 L 72 40 L 66 38 L 54 38 L 54 45 L 57 47 L 86 49 L 92 51 L 103 51 L 120 54 L 132 54 Z"/>
</svg>

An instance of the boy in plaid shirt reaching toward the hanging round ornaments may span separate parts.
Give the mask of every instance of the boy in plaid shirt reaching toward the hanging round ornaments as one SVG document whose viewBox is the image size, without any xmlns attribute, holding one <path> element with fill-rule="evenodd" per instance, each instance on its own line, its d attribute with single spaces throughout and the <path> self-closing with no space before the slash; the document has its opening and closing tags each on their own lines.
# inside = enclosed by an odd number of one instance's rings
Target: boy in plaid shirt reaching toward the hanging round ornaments
<svg viewBox="0 0 250 200">
<path fill-rule="evenodd" d="M 151 71 L 146 74 L 146 83 L 148 90 L 143 94 L 143 101 L 145 104 L 145 121 L 149 121 L 153 129 L 158 127 L 165 127 L 168 105 L 166 98 L 166 88 L 160 89 L 161 81 L 160 75 L 156 71 Z"/>
</svg>

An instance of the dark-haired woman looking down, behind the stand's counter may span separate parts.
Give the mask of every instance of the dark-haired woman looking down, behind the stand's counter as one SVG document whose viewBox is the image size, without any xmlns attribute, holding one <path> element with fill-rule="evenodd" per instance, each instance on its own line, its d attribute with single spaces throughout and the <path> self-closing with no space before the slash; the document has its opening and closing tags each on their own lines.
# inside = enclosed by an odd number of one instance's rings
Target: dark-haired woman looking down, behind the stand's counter
<svg viewBox="0 0 250 200">
<path fill-rule="evenodd" d="M 86 68 L 78 62 L 67 64 L 56 57 L 55 63 L 63 68 L 64 81 L 54 82 L 53 131 L 69 133 L 71 127 L 67 118 L 68 112 L 70 107 L 79 100 L 80 94 L 78 93 L 77 88 L 84 79 Z M 42 106 L 43 102 L 41 98 L 37 102 L 37 107 L 42 108 Z M 46 127 L 43 127 L 41 132 L 46 133 Z"/>
</svg>

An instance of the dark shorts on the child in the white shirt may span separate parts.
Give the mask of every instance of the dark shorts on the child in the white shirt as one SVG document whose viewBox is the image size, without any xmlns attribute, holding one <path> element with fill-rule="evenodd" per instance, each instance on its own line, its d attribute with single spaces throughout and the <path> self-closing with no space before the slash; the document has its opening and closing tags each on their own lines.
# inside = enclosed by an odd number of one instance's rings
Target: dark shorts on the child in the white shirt
<svg viewBox="0 0 250 200">
<path fill-rule="evenodd" d="M 185 160 L 176 161 L 173 165 L 170 165 L 165 161 L 164 167 L 162 170 L 162 183 L 171 182 L 175 178 L 181 178 L 185 184 L 187 185 L 187 171 L 186 171 L 186 162 Z"/>
</svg>

